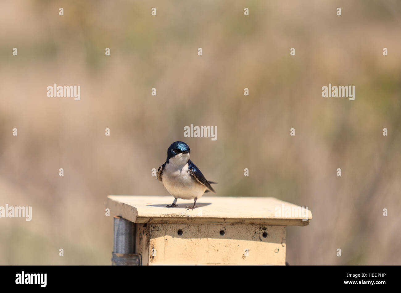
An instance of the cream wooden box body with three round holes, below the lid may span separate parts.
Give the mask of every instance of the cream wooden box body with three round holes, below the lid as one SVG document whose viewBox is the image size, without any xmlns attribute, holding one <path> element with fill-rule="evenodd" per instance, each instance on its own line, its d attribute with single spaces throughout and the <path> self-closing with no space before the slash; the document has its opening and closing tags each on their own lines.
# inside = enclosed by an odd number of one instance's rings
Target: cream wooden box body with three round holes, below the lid
<svg viewBox="0 0 401 293">
<path fill-rule="evenodd" d="M 285 265 L 286 227 L 136 224 L 142 265 Z"/>
</svg>

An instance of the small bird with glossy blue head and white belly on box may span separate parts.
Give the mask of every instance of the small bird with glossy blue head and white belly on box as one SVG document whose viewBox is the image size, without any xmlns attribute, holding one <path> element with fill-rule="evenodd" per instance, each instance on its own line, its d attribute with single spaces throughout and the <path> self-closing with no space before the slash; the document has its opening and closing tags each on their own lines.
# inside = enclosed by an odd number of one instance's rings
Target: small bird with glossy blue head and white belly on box
<svg viewBox="0 0 401 293">
<path fill-rule="evenodd" d="M 177 198 L 194 199 L 194 206 L 186 207 L 187 210 L 197 208 L 196 200 L 203 193 L 215 190 L 211 187 L 211 181 L 207 181 L 201 170 L 189 159 L 191 150 L 182 141 L 173 142 L 167 150 L 166 163 L 157 171 L 157 179 L 162 181 L 167 191 L 174 196 L 174 201 L 167 208 L 178 206 Z"/>
</svg>

